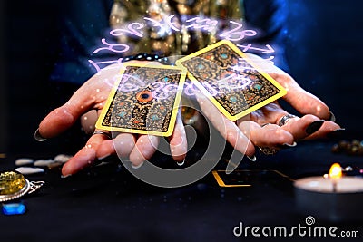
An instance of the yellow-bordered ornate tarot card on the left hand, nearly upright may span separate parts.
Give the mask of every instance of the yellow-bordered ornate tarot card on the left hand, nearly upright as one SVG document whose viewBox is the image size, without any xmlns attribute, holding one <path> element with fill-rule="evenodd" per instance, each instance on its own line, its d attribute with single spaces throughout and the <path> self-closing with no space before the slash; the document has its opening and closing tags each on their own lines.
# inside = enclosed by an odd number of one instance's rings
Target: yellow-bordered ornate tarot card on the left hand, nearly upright
<svg viewBox="0 0 363 242">
<path fill-rule="evenodd" d="M 158 136 L 174 129 L 186 70 L 148 63 L 124 64 L 96 128 Z"/>
</svg>

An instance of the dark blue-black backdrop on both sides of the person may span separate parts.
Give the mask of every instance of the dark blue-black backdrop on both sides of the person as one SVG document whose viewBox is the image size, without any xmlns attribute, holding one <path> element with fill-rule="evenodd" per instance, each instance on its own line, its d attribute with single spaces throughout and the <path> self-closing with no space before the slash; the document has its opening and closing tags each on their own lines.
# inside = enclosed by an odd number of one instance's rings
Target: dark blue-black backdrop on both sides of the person
<svg viewBox="0 0 363 242">
<path fill-rule="evenodd" d="M 33 137 L 39 121 L 69 97 L 49 81 L 62 34 L 55 27 L 59 2 L 1 1 L 0 152 L 78 149 L 78 142 L 67 134 L 43 143 Z M 288 4 L 289 73 L 326 102 L 338 123 L 359 139 L 363 4 L 353 0 Z"/>
</svg>

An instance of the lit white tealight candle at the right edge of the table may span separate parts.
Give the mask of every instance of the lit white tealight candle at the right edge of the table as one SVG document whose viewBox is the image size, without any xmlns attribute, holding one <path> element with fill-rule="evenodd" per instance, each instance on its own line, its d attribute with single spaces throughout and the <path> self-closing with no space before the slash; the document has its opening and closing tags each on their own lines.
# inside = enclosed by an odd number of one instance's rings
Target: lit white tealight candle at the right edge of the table
<svg viewBox="0 0 363 242">
<path fill-rule="evenodd" d="M 329 175 L 298 179 L 294 182 L 299 212 L 329 221 L 363 220 L 363 178 L 342 176 L 338 163 Z"/>
</svg>

